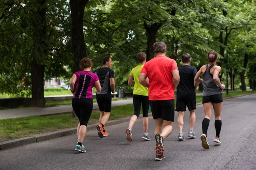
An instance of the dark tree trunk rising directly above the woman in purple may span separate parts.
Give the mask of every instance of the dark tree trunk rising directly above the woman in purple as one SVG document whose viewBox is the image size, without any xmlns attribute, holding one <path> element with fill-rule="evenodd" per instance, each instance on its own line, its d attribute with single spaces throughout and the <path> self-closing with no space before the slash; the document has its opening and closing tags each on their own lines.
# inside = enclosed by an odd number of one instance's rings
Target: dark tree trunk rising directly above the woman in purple
<svg viewBox="0 0 256 170">
<path fill-rule="evenodd" d="M 87 2 L 88 0 L 70 0 L 74 72 L 80 71 L 79 62 L 82 58 L 87 57 L 83 32 L 84 7 L 86 6 Z"/>
</svg>

